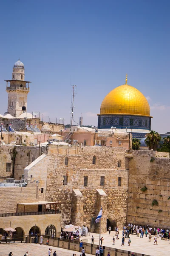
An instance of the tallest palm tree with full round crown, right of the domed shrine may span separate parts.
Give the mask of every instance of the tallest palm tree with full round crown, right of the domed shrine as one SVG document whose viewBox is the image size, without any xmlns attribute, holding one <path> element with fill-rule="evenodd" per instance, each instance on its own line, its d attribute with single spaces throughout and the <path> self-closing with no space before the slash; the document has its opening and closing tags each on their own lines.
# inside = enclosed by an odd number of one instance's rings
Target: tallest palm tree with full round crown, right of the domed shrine
<svg viewBox="0 0 170 256">
<path fill-rule="evenodd" d="M 149 147 L 149 150 L 156 150 L 159 145 L 159 141 L 161 140 L 161 136 L 157 131 L 150 131 L 149 134 L 146 134 L 145 143 Z"/>
</svg>

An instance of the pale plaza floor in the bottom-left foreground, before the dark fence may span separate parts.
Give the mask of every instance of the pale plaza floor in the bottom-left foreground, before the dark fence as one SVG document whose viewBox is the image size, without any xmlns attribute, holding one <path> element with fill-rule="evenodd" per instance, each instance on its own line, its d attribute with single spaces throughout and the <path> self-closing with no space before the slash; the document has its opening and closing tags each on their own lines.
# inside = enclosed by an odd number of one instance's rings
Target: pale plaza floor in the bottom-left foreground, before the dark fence
<svg viewBox="0 0 170 256">
<path fill-rule="evenodd" d="M 52 249 L 51 256 L 56 250 L 59 256 L 72 256 L 76 253 L 77 256 L 80 255 L 79 252 L 66 250 L 54 246 L 40 245 L 40 244 L 0 244 L 0 256 L 8 256 L 8 253 L 12 252 L 13 256 L 24 256 L 26 251 L 28 251 L 28 256 L 48 256 L 49 248 Z M 92 256 L 91 254 L 85 254 L 86 256 Z"/>
</svg>

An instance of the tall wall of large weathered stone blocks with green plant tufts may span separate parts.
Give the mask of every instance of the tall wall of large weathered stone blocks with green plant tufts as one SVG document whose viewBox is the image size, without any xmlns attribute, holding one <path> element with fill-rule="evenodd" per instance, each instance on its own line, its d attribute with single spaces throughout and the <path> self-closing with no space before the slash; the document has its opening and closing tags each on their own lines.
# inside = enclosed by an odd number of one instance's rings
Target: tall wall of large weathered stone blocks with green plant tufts
<svg viewBox="0 0 170 256">
<path fill-rule="evenodd" d="M 129 160 L 127 223 L 170 227 L 170 158 L 132 151 Z M 146 186 L 146 191 L 141 189 Z M 152 205 L 156 200 L 158 205 Z"/>
</svg>

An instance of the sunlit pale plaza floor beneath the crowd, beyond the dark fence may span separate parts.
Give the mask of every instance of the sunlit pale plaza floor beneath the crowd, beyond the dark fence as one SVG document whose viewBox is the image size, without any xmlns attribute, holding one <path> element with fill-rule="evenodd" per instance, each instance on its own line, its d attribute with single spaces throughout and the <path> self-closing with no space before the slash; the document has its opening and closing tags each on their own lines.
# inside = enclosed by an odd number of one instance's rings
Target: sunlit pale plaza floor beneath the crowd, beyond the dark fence
<svg viewBox="0 0 170 256">
<path fill-rule="evenodd" d="M 130 247 L 128 247 L 128 239 L 125 239 L 125 246 L 121 246 L 122 231 L 119 231 L 119 240 L 116 240 L 115 236 L 115 245 L 113 245 L 113 235 L 115 235 L 114 231 L 111 231 L 111 235 L 109 235 L 108 232 L 105 234 L 101 234 L 101 236 L 103 236 L 104 238 L 102 245 L 135 253 L 142 253 L 150 256 L 162 256 L 163 254 L 170 255 L 170 241 L 161 240 L 161 237 L 157 239 L 158 245 L 154 245 L 154 236 L 152 236 L 151 242 L 149 242 L 149 238 L 145 237 L 145 235 L 143 236 L 143 238 L 140 238 L 140 236 L 137 237 L 136 235 L 130 235 L 131 243 Z M 94 244 L 99 244 L 99 234 L 92 233 L 92 236 L 94 236 L 95 238 Z M 91 243 L 91 236 L 82 236 L 82 239 L 88 239 L 88 243 Z"/>
</svg>

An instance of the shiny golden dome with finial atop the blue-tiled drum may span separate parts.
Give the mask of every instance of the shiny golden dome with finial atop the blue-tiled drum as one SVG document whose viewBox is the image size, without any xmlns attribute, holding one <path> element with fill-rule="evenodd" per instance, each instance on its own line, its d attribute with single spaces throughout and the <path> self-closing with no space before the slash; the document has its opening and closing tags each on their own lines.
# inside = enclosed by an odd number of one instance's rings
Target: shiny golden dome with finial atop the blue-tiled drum
<svg viewBox="0 0 170 256">
<path fill-rule="evenodd" d="M 116 87 L 105 96 L 100 107 L 100 114 L 150 116 L 150 107 L 147 99 L 139 90 L 124 84 Z"/>
</svg>

